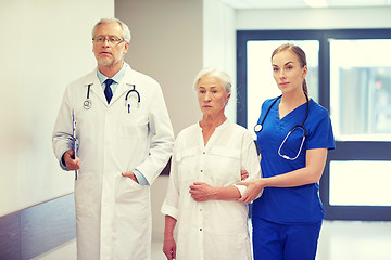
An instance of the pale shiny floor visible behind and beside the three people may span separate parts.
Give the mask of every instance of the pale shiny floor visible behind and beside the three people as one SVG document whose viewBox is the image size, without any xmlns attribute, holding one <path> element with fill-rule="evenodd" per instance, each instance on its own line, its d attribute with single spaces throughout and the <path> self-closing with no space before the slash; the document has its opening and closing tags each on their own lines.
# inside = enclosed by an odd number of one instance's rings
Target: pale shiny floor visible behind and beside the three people
<svg viewBox="0 0 391 260">
<path fill-rule="evenodd" d="M 34 258 L 74 260 L 75 240 Z M 391 222 L 325 221 L 316 260 L 390 260 Z M 152 243 L 152 260 L 165 260 L 162 242 Z"/>
</svg>

